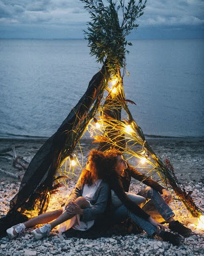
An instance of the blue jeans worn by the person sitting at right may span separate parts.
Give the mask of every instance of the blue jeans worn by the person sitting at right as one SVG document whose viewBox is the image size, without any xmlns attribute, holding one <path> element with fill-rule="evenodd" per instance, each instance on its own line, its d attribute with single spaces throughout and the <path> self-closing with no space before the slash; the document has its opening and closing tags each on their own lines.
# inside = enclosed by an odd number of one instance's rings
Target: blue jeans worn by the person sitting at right
<svg viewBox="0 0 204 256">
<path fill-rule="evenodd" d="M 145 189 L 142 189 L 137 195 L 141 195 L 144 198 L 146 198 L 146 202 L 149 199 L 151 199 L 156 209 L 158 210 L 158 212 L 161 214 L 165 221 L 167 221 L 170 217 L 175 215 L 172 209 L 161 197 L 159 192 L 152 189 L 150 186 L 147 186 Z M 144 206 L 146 202 L 144 202 L 142 206 Z M 155 226 L 153 226 L 149 221 L 137 216 L 133 212 L 130 212 L 124 205 L 118 207 L 113 213 L 114 224 L 125 221 L 129 217 L 133 220 L 135 224 L 137 224 L 144 231 L 146 231 L 149 236 L 155 235 L 155 232 L 157 230 Z"/>
</svg>

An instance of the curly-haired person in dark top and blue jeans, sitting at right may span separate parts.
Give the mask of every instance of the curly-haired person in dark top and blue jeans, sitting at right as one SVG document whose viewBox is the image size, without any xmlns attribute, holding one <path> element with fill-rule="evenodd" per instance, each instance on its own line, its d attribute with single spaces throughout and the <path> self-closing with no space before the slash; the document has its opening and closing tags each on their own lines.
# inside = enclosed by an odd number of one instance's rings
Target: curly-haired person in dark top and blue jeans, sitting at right
<svg viewBox="0 0 204 256">
<path fill-rule="evenodd" d="M 151 199 L 165 221 L 169 223 L 170 230 L 182 236 L 189 236 L 191 230 L 184 227 L 179 221 L 175 221 L 175 215 L 167 203 L 172 201 L 172 195 L 156 181 L 142 175 L 127 162 L 119 150 L 113 149 L 106 154 L 106 165 L 110 169 L 109 186 L 113 196 L 113 215 L 114 223 L 119 223 L 127 218 L 131 218 L 137 225 L 147 232 L 150 236 L 158 235 L 164 241 L 170 241 L 174 245 L 181 243 L 181 236 L 164 231 L 164 226 L 155 221 L 136 203 L 136 196 L 140 195 L 148 201 Z M 131 177 L 142 181 L 147 187 L 142 189 L 137 195 L 128 195 Z M 113 193 L 114 192 L 114 193 Z M 163 198 L 161 197 L 163 195 Z M 117 204 L 114 205 L 114 202 Z M 120 205 L 118 206 L 118 204 Z M 143 203 L 144 205 L 144 203 Z"/>
</svg>

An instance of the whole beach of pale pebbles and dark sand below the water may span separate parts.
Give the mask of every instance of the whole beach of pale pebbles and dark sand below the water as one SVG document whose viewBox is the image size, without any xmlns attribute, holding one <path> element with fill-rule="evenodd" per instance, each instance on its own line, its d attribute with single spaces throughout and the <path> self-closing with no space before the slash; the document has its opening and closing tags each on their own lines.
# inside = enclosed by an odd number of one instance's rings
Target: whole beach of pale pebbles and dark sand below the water
<svg viewBox="0 0 204 256">
<path fill-rule="evenodd" d="M 173 164 L 176 176 L 187 192 L 192 192 L 195 204 L 204 211 L 204 140 L 203 139 L 150 139 L 148 140 L 156 154 L 163 159 L 168 157 Z M 43 140 L 0 140 L 0 150 L 11 145 L 16 147 L 16 153 L 23 156 L 26 161 L 31 161 L 34 154 L 43 144 Z M 84 157 L 92 147 L 91 143 L 83 141 Z M 13 173 L 16 178 L 1 174 L 0 182 L 0 215 L 6 215 L 9 209 L 10 200 L 17 193 L 20 186 L 20 179 L 23 171 L 14 169 L 12 158 L 9 156 L 0 158 L 0 169 Z M 47 211 L 58 209 L 65 202 L 67 195 L 74 188 L 77 177 L 67 181 L 66 186 L 59 188 L 59 192 L 52 195 Z M 144 184 L 132 179 L 130 192 L 139 192 Z M 170 207 L 176 215 L 176 219 L 187 224 L 190 213 L 181 202 L 172 202 Z M 8 237 L 0 238 L 0 256 L 153 256 L 153 255 L 204 255 L 204 230 L 191 225 L 192 236 L 183 238 L 179 247 L 169 242 L 162 241 L 158 237 L 149 238 L 145 232 L 130 234 L 126 236 L 112 236 L 99 239 L 77 239 L 67 238 L 53 230 L 47 238 L 35 241 L 30 235 L 31 229 L 27 229 L 24 236 L 9 240 Z M 168 226 L 165 225 L 166 230 Z"/>
</svg>

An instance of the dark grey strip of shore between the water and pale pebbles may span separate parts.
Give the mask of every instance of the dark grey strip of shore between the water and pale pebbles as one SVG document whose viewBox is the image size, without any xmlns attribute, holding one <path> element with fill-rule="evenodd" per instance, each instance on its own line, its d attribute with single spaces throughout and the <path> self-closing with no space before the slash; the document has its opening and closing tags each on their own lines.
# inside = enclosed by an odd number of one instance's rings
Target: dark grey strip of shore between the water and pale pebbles
<svg viewBox="0 0 204 256">
<path fill-rule="evenodd" d="M 13 166 L 14 159 L 11 146 L 15 146 L 17 156 L 22 156 L 30 163 L 46 140 L 45 138 L 0 139 L 0 152 L 6 151 L 8 153 L 0 154 L 0 169 L 17 176 L 22 176 L 25 171 L 20 171 Z M 164 161 L 166 157 L 170 160 L 178 180 L 181 180 L 181 182 L 190 180 L 202 182 L 204 178 L 204 139 L 150 138 L 147 141 L 161 160 Z M 92 144 L 91 139 L 86 138 L 80 140 L 80 145 L 83 155 L 79 148 L 76 148 L 78 150 L 77 157 L 80 160 L 85 159 L 91 148 L 98 147 L 97 144 Z M 2 178 L 3 180 L 12 179 L 7 175 L 2 175 Z"/>
</svg>

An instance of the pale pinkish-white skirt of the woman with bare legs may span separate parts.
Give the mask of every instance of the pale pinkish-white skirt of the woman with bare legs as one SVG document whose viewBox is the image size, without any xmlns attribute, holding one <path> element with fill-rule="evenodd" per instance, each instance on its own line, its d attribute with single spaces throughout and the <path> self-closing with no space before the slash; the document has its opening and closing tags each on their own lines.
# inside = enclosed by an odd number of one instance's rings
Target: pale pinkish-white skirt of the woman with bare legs
<svg viewBox="0 0 204 256">
<path fill-rule="evenodd" d="M 88 200 L 87 200 L 88 201 Z M 90 206 L 91 203 L 88 201 Z M 62 213 L 66 211 L 65 206 L 62 207 Z M 75 215 L 71 219 L 68 219 L 67 221 L 62 222 L 57 226 L 57 231 L 61 234 L 65 232 L 66 230 L 69 230 L 71 227 L 75 230 L 81 230 L 86 231 L 90 229 L 94 225 L 94 220 L 91 221 L 80 221 L 80 214 Z"/>
</svg>

